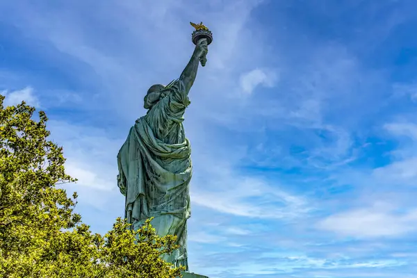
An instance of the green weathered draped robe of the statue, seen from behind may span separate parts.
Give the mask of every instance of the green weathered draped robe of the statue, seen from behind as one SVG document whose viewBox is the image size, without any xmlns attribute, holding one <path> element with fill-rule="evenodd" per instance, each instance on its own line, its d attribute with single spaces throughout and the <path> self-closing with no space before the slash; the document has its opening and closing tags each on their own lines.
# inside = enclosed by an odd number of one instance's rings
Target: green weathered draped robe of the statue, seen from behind
<svg viewBox="0 0 417 278">
<path fill-rule="evenodd" d="M 153 217 L 156 233 L 176 235 L 181 245 L 165 261 L 188 270 L 186 224 L 192 164 L 182 122 L 190 100 L 181 80 L 172 82 L 165 94 L 131 127 L 117 155 L 117 181 L 126 196 L 125 217 L 132 229 Z"/>
</svg>

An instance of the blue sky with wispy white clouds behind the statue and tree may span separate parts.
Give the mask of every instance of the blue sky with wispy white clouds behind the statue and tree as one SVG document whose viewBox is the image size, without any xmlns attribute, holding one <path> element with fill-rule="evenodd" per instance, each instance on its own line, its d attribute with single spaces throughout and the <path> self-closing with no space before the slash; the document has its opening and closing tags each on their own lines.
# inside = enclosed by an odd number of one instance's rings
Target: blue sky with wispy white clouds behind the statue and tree
<svg viewBox="0 0 417 278">
<path fill-rule="evenodd" d="M 99 3 L 100 2 L 100 3 Z M 186 112 L 190 270 L 417 277 L 417 3 L 1 1 L 0 90 L 49 115 L 77 210 L 124 214 L 117 151 L 213 31 Z"/>
</svg>

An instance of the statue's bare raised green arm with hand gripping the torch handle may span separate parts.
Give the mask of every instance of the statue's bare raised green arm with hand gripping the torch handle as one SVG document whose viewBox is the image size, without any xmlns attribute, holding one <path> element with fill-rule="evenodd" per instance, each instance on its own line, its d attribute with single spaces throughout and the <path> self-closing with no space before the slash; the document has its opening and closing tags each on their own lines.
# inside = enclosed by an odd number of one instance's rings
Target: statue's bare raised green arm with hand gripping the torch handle
<svg viewBox="0 0 417 278">
<path fill-rule="evenodd" d="M 202 60 L 202 63 L 205 63 L 205 58 L 207 54 L 207 40 L 201 39 L 197 42 L 193 56 L 190 58 L 190 62 L 181 73 L 179 79 L 183 82 L 186 87 L 186 92 L 190 91 L 190 88 L 193 86 L 195 81 L 195 76 L 197 76 L 197 69 L 199 60 Z"/>
</svg>

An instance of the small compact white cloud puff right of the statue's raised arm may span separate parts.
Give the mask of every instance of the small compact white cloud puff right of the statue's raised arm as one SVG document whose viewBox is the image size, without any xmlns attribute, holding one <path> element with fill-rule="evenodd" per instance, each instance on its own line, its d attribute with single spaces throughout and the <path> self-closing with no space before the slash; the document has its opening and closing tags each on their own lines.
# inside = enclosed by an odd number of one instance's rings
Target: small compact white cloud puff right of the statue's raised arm
<svg viewBox="0 0 417 278">
<path fill-rule="evenodd" d="M 259 85 L 270 88 L 275 85 L 276 81 L 275 71 L 256 68 L 240 76 L 240 88 L 245 95 L 251 95 Z"/>
</svg>

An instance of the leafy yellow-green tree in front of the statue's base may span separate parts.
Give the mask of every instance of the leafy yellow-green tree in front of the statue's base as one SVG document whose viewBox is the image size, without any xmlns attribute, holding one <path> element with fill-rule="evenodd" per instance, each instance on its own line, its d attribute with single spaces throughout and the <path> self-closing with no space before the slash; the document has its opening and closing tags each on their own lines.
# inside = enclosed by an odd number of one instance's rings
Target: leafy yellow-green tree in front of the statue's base
<svg viewBox="0 0 417 278">
<path fill-rule="evenodd" d="M 3 106 L 0 95 L 0 277 L 174 278 L 162 254 L 178 248 L 174 236 L 159 237 L 150 220 L 131 231 L 117 218 L 105 236 L 92 234 L 74 213 L 76 193 L 59 183 L 63 147 L 48 139 L 47 115 L 23 101 Z"/>
</svg>

